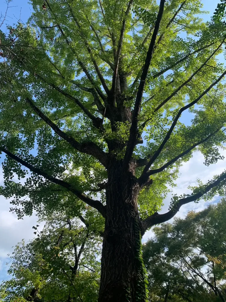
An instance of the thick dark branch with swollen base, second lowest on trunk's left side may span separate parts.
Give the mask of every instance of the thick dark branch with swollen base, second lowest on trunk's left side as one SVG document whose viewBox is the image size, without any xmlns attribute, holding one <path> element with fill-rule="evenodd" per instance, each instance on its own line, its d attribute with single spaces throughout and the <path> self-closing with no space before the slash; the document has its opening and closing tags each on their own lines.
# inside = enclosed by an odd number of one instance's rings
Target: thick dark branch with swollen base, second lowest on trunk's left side
<svg viewBox="0 0 226 302">
<path fill-rule="evenodd" d="M 104 165 L 105 167 L 107 166 L 107 154 L 103 150 L 101 150 L 99 146 L 97 146 L 93 142 L 79 143 L 73 137 L 60 130 L 56 124 L 54 124 L 45 114 L 42 113 L 42 111 L 39 110 L 39 108 L 36 107 L 32 100 L 26 98 L 26 101 L 30 105 L 30 107 L 39 115 L 39 117 L 44 120 L 44 122 L 46 122 L 46 124 L 48 124 L 55 131 L 55 133 L 62 137 L 62 139 L 66 140 L 76 150 L 94 156 L 102 163 L 102 165 Z"/>
</svg>

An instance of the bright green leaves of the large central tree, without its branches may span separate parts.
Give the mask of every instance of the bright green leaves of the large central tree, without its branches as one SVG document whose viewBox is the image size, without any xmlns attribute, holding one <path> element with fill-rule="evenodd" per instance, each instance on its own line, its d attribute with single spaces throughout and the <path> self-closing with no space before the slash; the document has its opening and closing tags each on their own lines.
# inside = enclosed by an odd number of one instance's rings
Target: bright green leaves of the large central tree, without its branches
<svg viewBox="0 0 226 302">
<path fill-rule="evenodd" d="M 9 28 L 8 34 L 1 33 L 1 47 L 7 58 L 5 63 L 1 63 L 3 91 L 0 127 L 2 144 L 31 164 L 39 166 L 49 175 L 63 178 L 80 191 L 87 192 L 91 188 L 98 188 L 98 184 L 107 179 L 104 167 L 93 156 L 76 151 L 67 142 L 60 139 L 33 112 L 25 99 L 33 97 L 36 106 L 43 113 L 60 129 L 75 137 L 79 142 L 92 141 L 103 150 L 108 151 L 106 143 L 108 140 L 119 141 L 122 148 L 115 148 L 111 154 L 115 155 L 117 159 L 121 159 L 124 156 L 129 137 L 128 121 L 116 121 L 116 131 L 112 131 L 109 119 L 104 117 L 105 133 L 102 133 L 93 126 L 90 119 L 73 100 L 65 97 L 54 87 L 79 99 L 95 117 L 101 117 L 97 105 L 93 103 L 93 95 L 83 88 L 91 89 L 95 85 L 96 87 L 101 85 L 96 70 L 92 67 L 93 59 L 96 60 L 106 84 L 108 86 L 111 84 L 112 70 L 109 62 L 114 62 L 115 46 L 109 38 L 109 28 L 112 29 L 117 40 L 120 34 L 122 8 L 126 3 L 121 1 L 114 6 L 113 2 L 103 2 L 104 16 L 100 4 L 96 1 L 76 1 L 68 5 L 64 5 L 64 1 L 48 3 L 49 6 L 46 4 L 43 8 L 42 1 L 33 1 L 34 13 L 28 22 L 29 26 L 16 24 L 15 27 Z M 212 53 L 224 36 L 224 28 L 220 28 L 218 23 L 204 24 L 197 17 L 197 14 L 201 13 L 200 1 L 186 1 L 180 22 L 179 17 L 176 17 L 175 22 L 171 22 L 170 26 L 167 26 L 168 20 L 180 4 L 178 0 L 166 2 L 159 34 L 162 43 L 159 40 L 152 59 L 139 117 L 139 125 L 147 118 L 150 119 L 143 134 L 146 146 L 138 145 L 136 147 L 136 155 L 134 155 L 136 158 L 146 157 L 155 152 L 164 138 L 171 118 L 178 111 L 178 104 L 180 106 L 185 104 L 187 96 L 190 99 L 196 98 L 199 91 L 208 87 L 209 83 L 216 78 L 216 74 L 223 70 L 223 66 L 218 62 L 216 56 L 213 56 L 192 82 L 184 86 L 167 102 L 165 107 L 163 106 L 153 115 L 153 110 L 163 97 L 169 96 L 177 89 Z M 120 61 L 120 70 L 127 77 L 127 88 L 124 94 L 130 99 L 137 87 L 137 84 L 134 86 L 131 83 L 140 72 L 140 62 L 145 59 L 150 39 L 149 27 L 155 23 L 158 5 L 152 1 L 145 3 L 135 1 L 132 10 L 133 14 L 129 14 L 126 20 L 126 33 Z M 77 30 L 78 24 L 80 24 L 79 30 Z M 182 39 L 178 36 L 178 32 L 184 32 L 186 37 Z M 100 41 L 97 38 L 99 33 L 101 33 Z M 194 39 L 192 35 L 195 36 Z M 212 43 L 213 35 L 213 45 L 198 52 L 197 55 L 188 56 L 182 63 L 172 67 L 168 74 L 153 78 L 165 67 L 173 66 L 184 55 L 196 51 L 200 46 Z M 144 40 L 145 43 L 143 43 Z M 11 46 L 8 47 L 7 43 L 10 43 Z M 100 49 L 100 43 L 104 45 L 104 51 Z M 91 47 L 92 55 L 86 49 L 87 45 Z M 216 55 L 221 51 L 219 50 Z M 82 70 L 80 61 L 85 65 L 87 72 L 92 75 L 95 84 L 90 83 Z M 103 91 L 103 93 L 105 92 Z M 164 150 L 155 161 L 153 169 L 162 166 L 177 154 L 188 149 L 193 143 L 202 140 L 203 137 L 215 131 L 219 125 L 224 125 L 224 94 L 225 85 L 218 84 L 209 92 L 208 96 L 203 97 L 198 108 L 190 108 L 190 112 L 194 114 L 192 125 L 185 127 L 181 122 L 178 124 Z M 152 100 L 148 101 L 150 97 Z M 127 106 L 133 107 L 134 100 L 129 102 L 130 104 L 128 103 Z M 140 131 L 142 132 L 142 130 Z M 199 149 L 206 157 L 206 163 L 211 164 L 221 159 L 218 148 L 224 141 L 224 132 L 220 130 L 211 141 L 205 142 L 194 150 Z M 183 157 L 183 161 L 189 160 L 191 156 L 192 152 L 189 152 Z M 140 192 L 139 203 L 142 218 L 159 209 L 168 193 L 168 185 L 174 185 L 178 167 L 181 164 L 182 159 L 179 159 L 164 171 L 153 175 L 153 185 Z M 57 185 L 43 181 L 43 178 L 35 173 L 30 174 L 26 169 L 21 168 L 20 164 L 15 164 L 13 160 L 5 159 L 3 168 L 5 186 L 2 188 L 1 194 L 13 197 L 16 192 L 12 201 L 15 207 L 12 207 L 12 210 L 17 211 L 19 217 L 24 214 L 30 215 L 33 210 L 40 210 L 41 204 L 45 204 L 49 209 L 56 209 L 65 194 L 67 194 L 68 204 L 76 204 L 75 214 L 78 215 L 85 210 L 83 203 L 73 194 L 64 189 L 59 192 Z M 138 168 L 137 176 L 141 172 L 142 168 Z M 16 175 L 19 180 L 24 179 L 23 182 L 18 183 Z M 27 195 L 29 200 L 26 198 Z M 105 194 L 102 193 L 101 197 L 104 203 Z M 154 204 L 153 200 L 155 200 Z"/>
</svg>

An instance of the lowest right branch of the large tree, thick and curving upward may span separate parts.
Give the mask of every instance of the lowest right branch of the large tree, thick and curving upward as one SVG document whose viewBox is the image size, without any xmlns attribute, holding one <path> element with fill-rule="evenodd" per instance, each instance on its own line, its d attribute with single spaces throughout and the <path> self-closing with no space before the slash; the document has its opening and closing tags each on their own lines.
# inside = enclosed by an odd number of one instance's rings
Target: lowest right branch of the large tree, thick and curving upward
<svg viewBox="0 0 226 302">
<path fill-rule="evenodd" d="M 142 232 L 141 232 L 142 236 L 144 235 L 145 231 L 149 227 L 151 227 L 155 224 L 163 223 L 165 221 L 170 220 L 171 218 L 174 217 L 175 214 L 177 214 L 177 212 L 179 211 L 179 209 L 182 205 L 188 204 L 189 202 L 196 201 L 197 199 L 201 198 L 204 194 L 208 193 L 211 189 L 218 186 L 221 182 L 224 182 L 225 179 L 226 179 L 226 172 L 222 173 L 222 175 L 219 176 L 218 179 L 215 182 L 212 182 L 209 185 L 207 185 L 205 189 L 200 190 L 199 193 L 196 193 L 196 194 L 191 195 L 191 196 L 186 197 L 186 198 L 179 199 L 177 201 L 177 203 L 172 207 L 172 209 L 169 210 L 167 213 L 158 214 L 157 212 L 155 212 L 153 215 L 146 218 L 142 222 Z"/>
</svg>

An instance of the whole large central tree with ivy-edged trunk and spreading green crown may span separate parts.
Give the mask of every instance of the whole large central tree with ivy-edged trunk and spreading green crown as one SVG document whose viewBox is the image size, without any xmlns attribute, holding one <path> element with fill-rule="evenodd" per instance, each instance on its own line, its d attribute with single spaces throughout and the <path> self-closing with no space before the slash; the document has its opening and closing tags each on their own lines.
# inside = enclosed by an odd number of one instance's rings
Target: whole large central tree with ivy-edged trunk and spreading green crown
<svg viewBox="0 0 226 302">
<path fill-rule="evenodd" d="M 27 25 L 1 32 L 1 194 L 19 217 L 65 196 L 74 216 L 96 209 L 99 302 L 146 301 L 145 231 L 224 194 L 226 172 L 157 212 L 194 151 L 206 165 L 222 159 L 224 2 L 207 23 L 199 0 L 32 4 Z"/>
</svg>

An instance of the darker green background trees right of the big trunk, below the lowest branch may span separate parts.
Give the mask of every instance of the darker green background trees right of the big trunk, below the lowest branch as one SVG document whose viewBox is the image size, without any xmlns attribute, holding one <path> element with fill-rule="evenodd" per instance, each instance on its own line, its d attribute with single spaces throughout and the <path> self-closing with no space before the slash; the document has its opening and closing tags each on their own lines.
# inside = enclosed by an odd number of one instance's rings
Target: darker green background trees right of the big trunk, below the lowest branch
<svg viewBox="0 0 226 302">
<path fill-rule="evenodd" d="M 150 295 L 225 302 L 225 210 L 217 205 L 154 229 L 143 247 Z M 205 298 L 204 298 L 205 297 Z M 158 300 L 159 301 L 159 300 Z"/>
</svg>

